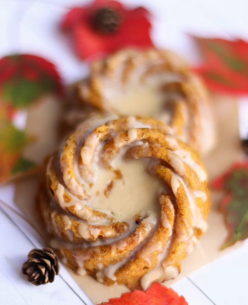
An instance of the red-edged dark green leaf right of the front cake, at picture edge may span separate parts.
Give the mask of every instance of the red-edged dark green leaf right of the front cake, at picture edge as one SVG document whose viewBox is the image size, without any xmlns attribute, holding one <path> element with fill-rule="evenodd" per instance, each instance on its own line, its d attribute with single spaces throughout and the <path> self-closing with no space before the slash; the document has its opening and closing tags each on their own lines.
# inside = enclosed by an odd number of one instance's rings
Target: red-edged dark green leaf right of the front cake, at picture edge
<svg viewBox="0 0 248 305">
<path fill-rule="evenodd" d="M 235 163 L 212 181 L 212 187 L 227 193 L 220 203 L 228 230 L 227 239 L 221 247 L 225 249 L 248 237 L 248 162 Z"/>
</svg>

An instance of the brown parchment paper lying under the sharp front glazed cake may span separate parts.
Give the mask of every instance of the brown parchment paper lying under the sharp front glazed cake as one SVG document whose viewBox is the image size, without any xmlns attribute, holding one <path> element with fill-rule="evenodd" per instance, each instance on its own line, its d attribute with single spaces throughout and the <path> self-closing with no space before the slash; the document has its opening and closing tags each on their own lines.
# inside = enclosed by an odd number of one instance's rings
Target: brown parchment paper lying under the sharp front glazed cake
<svg viewBox="0 0 248 305">
<path fill-rule="evenodd" d="M 230 97 L 212 96 L 212 103 L 217 129 L 217 144 L 215 149 L 204 158 L 210 181 L 234 161 L 241 160 L 243 157 L 239 140 L 238 101 Z M 38 177 L 32 177 L 16 183 L 16 204 L 34 224 L 36 219 L 34 197 L 38 182 Z M 210 190 L 210 193 L 212 206 L 208 216 L 208 230 L 201 237 L 194 251 L 183 260 L 179 276 L 165 282 L 165 285 L 173 284 L 204 264 L 210 263 L 240 246 L 240 243 L 236 243 L 224 251 L 219 251 L 227 234 L 224 217 L 218 208 L 224 194 L 213 190 Z M 69 269 L 68 272 L 95 304 L 118 297 L 122 292 L 128 291 L 123 285 L 107 287 L 87 275 L 79 276 Z"/>
</svg>

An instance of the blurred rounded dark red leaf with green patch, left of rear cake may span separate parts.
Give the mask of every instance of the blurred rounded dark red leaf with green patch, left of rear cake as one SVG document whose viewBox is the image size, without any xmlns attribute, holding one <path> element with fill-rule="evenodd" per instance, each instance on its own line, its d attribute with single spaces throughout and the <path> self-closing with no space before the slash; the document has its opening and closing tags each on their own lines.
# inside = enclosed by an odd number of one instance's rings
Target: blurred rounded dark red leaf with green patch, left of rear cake
<svg viewBox="0 0 248 305">
<path fill-rule="evenodd" d="M 44 94 L 62 91 L 61 78 L 47 60 L 30 54 L 0 59 L 0 98 L 6 105 L 26 108 Z"/>
</svg>

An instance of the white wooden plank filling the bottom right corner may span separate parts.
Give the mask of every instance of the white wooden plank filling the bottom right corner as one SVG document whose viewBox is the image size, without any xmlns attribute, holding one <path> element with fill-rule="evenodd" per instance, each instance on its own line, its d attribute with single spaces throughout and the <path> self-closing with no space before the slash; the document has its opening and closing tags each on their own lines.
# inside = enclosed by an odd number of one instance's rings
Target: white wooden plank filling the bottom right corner
<svg viewBox="0 0 248 305">
<path fill-rule="evenodd" d="M 215 260 L 189 278 L 218 305 L 248 304 L 248 241 L 244 246 Z"/>
</svg>

